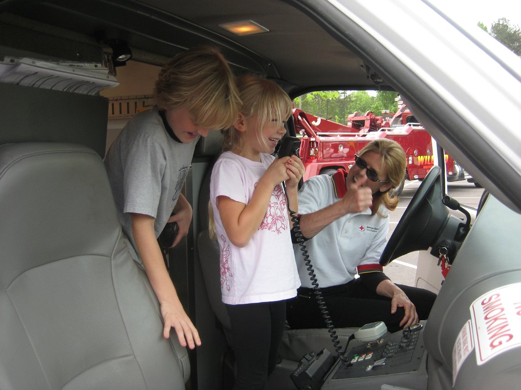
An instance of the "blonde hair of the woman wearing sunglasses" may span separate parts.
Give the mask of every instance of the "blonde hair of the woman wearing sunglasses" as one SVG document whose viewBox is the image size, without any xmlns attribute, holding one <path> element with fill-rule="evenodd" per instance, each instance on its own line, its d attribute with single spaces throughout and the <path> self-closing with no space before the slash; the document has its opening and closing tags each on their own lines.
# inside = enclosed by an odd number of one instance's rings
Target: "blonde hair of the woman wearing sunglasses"
<svg viewBox="0 0 521 390">
<path fill-rule="evenodd" d="M 392 188 L 398 187 L 405 177 L 405 167 L 407 158 L 405 152 L 398 142 L 388 138 L 378 138 L 367 144 L 359 153 L 360 157 L 366 152 L 377 152 L 382 157 L 382 168 L 387 169 L 387 180 L 392 184 Z M 398 197 L 393 196 L 392 191 L 378 191 L 373 195 L 373 215 L 378 213 L 380 204 L 386 206 L 390 211 L 398 206 Z"/>
</svg>

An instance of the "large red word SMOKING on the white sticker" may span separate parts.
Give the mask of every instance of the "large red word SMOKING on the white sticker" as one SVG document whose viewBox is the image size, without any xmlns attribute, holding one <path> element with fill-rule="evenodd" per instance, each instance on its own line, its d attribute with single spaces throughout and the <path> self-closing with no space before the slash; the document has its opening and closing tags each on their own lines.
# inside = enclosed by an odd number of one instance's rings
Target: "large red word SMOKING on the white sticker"
<svg viewBox="0 0 521 390">
<path fill-rule="evenodd" d="M 483 314 L 487 321 L 487 335 L 490 349 L 497 348 L 503 343 L 507 343 L 514 338 L 511 333 L 510 325 L 505 316 L 502 316 L 505 308 L 500 299 L 500 294 L 492 294 L 489 298 L 481 301 Z M 496 323 L 498 322 L 499 323 Z"/>
</svg>

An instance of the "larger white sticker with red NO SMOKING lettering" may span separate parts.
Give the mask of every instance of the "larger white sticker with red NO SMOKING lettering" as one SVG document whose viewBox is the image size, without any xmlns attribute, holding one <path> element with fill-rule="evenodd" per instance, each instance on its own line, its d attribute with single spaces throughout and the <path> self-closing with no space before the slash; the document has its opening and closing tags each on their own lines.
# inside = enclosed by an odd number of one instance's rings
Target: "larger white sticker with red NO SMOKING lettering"
<svg viewBox="0 0 521 390">
<path fill-rule="evenodd" d="M 481 295 L 470 306 L 478 365 L 521 346 L 520 289 L 521 283 L 505 285 Z"/>
</svg>

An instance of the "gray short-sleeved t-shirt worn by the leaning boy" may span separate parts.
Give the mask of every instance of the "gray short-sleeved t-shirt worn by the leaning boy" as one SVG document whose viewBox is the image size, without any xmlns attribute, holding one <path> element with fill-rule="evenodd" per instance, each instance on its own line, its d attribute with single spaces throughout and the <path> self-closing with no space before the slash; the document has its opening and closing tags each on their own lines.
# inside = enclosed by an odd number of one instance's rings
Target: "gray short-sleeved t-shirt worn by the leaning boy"
<svg viewBox="0 0 521 390">
<path fill-rule="evenodd" d="M 154 217 L 159 236 L 187 178 L 197 140 L 172 139 L 154 107 L 133 116 L 105 157 L 118 217 L 132 257 L 140 263 L 129 213 Z"/>
</svg>

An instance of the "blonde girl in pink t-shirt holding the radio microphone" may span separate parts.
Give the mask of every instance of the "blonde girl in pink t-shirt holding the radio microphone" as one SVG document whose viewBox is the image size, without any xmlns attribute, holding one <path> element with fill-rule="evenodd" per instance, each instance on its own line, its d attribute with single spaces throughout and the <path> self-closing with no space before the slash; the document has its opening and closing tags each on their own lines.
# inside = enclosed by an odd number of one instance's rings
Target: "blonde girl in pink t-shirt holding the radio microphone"
<svg viewBox="0 0 521 390">
<path fill-rule="evenodd" d="M 243 105 L 225 132 L 224 152 L 212 171 L 210 203 L 220 247 L 222 301 L 237 360 L 233 388 L 253 390 L 263 389 L 275 368 L 286 300 L 300 287 L 288 208 L 297 212 L 304 165 L 295 156 L 271 155 L 286 133 L 288 95 L 251 75 L 242 76 L 238 87 Z"/>
</svg>

